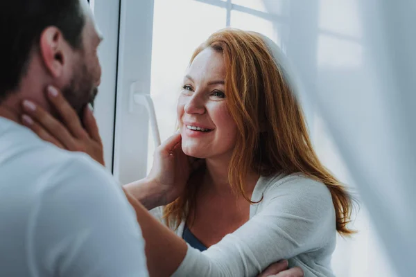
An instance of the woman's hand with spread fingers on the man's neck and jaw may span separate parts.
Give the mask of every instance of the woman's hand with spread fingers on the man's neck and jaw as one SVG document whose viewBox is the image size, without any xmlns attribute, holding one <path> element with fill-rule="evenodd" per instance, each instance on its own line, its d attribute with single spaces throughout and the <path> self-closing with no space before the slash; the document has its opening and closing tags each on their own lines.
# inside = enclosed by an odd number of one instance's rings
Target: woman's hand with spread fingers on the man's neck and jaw
<svg viewBox="0 0 416 277">
<path fill-rule="evenodd" d="M 92 110 L 85 107 L 84 129 L 76 111 L 57 89 L 49 86 L 46 94 L 62 121 L 51 116 L 34 102 L 24 100 L 22 107 L 25 114 L 21 116 L 21 122 L 44 141 L 65 150 L 85 152 L 104 166 L 103 143 Z"/>
</svg>

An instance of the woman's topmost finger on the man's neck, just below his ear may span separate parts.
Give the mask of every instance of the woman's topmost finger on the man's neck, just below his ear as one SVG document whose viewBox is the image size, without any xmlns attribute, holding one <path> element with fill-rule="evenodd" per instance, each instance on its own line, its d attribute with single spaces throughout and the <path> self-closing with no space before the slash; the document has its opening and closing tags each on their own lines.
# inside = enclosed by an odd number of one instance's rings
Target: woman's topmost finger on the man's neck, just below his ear
<svg viewBox="0 0 416 277">
<path fill-rule="evenodd" d="M 62 93 L 55 89 L 53 86 L 47 88 L 48 97 L 58 114 L 62 118 L 62 121 L 67 125 L 69 132 L 78 139 L 85 139 L 88 134 L 80 123 L 80 118 L 76 111 L 69 105 L 67 100 L 62 96 Z"/>
</svg>

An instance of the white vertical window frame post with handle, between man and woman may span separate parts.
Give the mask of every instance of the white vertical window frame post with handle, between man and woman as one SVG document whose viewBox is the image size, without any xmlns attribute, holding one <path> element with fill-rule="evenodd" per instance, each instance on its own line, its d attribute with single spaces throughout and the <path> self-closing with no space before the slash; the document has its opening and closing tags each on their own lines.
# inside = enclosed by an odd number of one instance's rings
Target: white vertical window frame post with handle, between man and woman
<svg viewBox="0 0 416 277">
<path fill-rule="evenodd" d="M 121 0 L 113 175 L 121 184 L 146 177 L 148 111 L 132 93 L 150 94 L 153 0 Z"/>
</svg>

